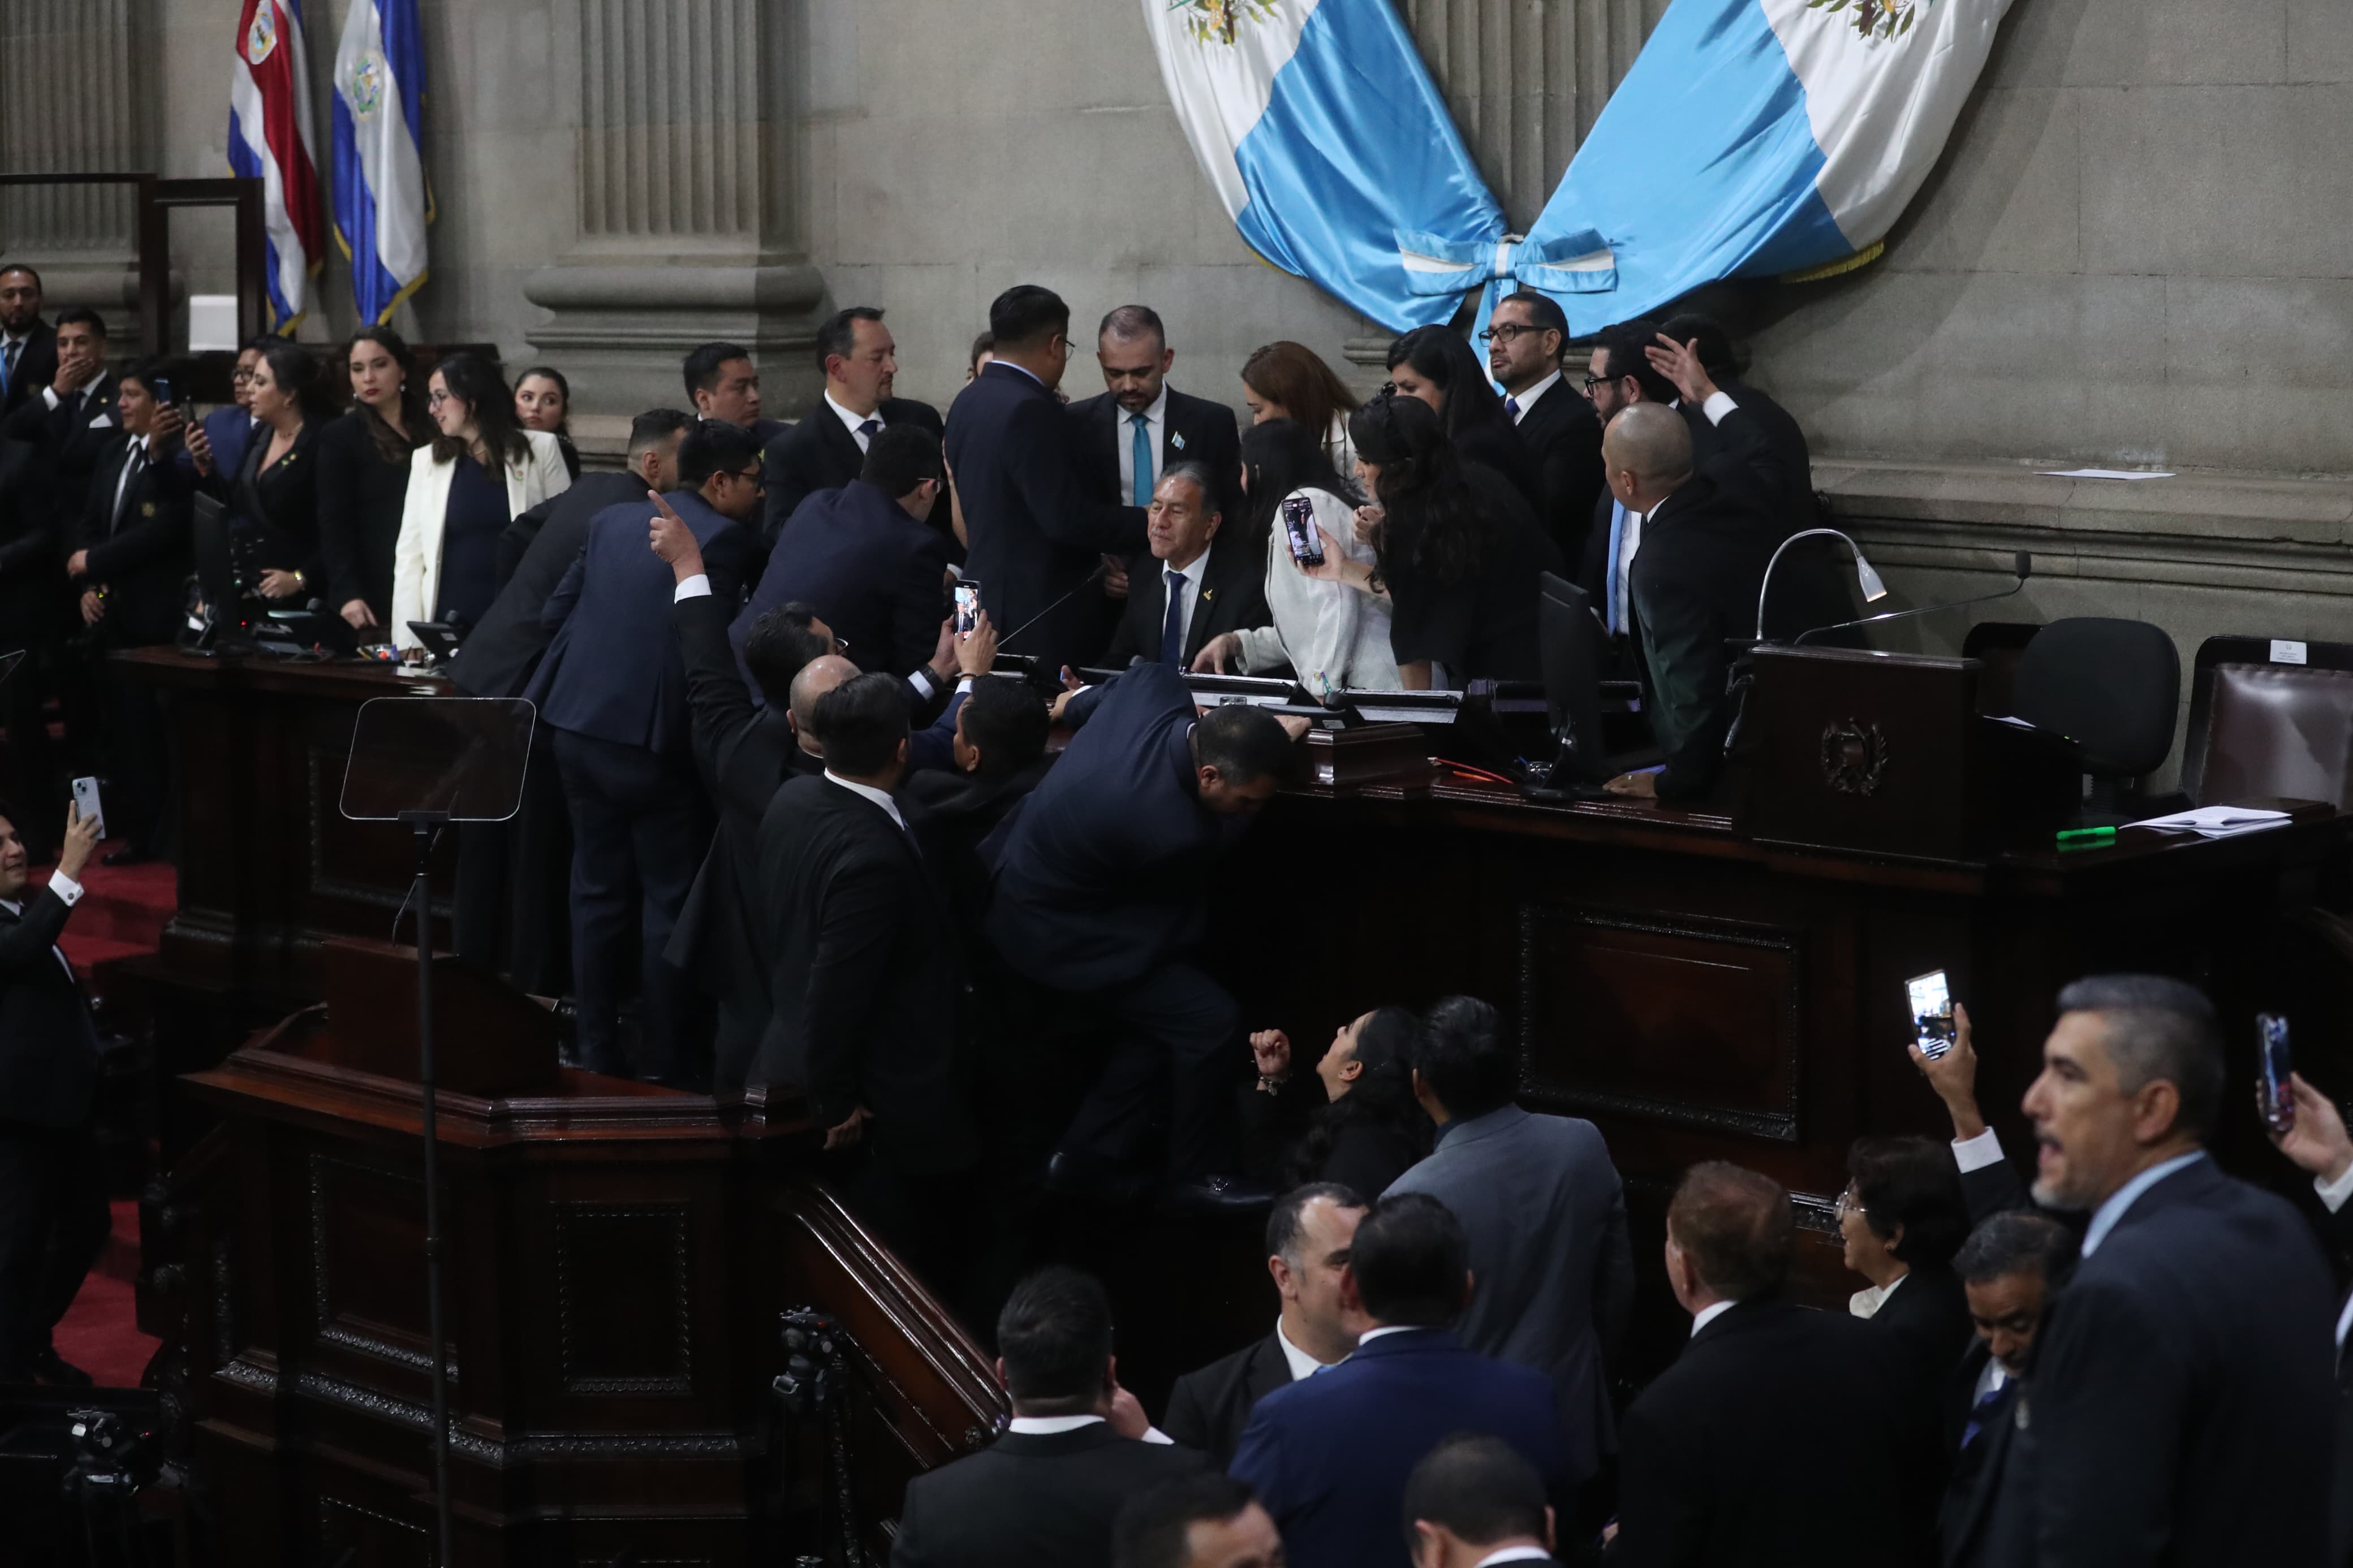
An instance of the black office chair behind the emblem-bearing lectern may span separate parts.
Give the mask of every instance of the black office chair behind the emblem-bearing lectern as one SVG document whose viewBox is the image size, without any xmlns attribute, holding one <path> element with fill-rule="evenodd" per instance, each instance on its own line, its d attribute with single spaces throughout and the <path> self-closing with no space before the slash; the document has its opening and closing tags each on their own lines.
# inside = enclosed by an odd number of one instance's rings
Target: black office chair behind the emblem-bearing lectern
<svg viewBox="0 0 2353 1568">
<path fill-rule="evenodd" d="M 2082 748 L 2085 820 L 2146 816 L 2141 780 L 2174 750 L 2181 654 L 2146 621 L 2052 621 L 2019 654 L 2009 703 Z"/>
</svg>

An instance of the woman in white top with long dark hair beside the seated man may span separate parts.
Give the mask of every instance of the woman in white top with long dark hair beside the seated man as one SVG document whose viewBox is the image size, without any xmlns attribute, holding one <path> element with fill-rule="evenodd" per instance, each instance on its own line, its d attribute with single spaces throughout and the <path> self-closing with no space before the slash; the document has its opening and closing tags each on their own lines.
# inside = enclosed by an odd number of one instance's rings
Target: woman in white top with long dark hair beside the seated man
<svg viewBox="0 0 2353 1568">
<path fill-rule="evenodd" d="M 1353 487 L 1332 470 L 1315 425 L 1266 418 L 1242 430 L 1242 538 L 1264 538 L 1268 623 L 1224 632 L 1193 656 L 1195 670 L 1264 675 L 1285 665 L 1318 698 L 1341 691 L 1393 691 L 1398 661 L 1388 651 L 1388 602 L 1346 583 L 1313 578 L 1292 557 L 1282 503 L 1306 501 L 1315 527 L 1351 559 L 1372 567 L 1355 534 Z"/>
</svg>

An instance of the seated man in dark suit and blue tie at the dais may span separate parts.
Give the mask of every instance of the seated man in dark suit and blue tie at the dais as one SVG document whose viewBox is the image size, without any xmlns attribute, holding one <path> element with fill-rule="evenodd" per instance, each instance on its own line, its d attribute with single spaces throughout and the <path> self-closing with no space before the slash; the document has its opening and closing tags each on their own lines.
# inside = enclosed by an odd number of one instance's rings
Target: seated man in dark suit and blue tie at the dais
<svg viewBox="0 0 2353 1568">
<path fill-rule="evenodd" d="M 1193 668 L 1193 656 L 1224 632 L 1266 625 L 1264 543 L 1221 534 L 1219 491 L 1195 461 L 1172 463 L 1146 510 L 1148 555 L 1127 562 L 1127 609 L 1104 663 Z"/>
</svg>

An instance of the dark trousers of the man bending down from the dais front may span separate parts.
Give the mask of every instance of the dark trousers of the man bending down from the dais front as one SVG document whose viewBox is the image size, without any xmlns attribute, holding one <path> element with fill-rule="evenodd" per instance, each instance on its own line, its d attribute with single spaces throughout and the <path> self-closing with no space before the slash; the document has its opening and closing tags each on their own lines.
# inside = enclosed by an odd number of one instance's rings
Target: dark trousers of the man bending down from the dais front
<svg viewBox="0 0 2353 1568">
<path fill-rule="evenodd" d="M 1061 1147 L 1127 1159 L 1155 1112 L 1167 1107 L 1169 1178 L 1195 1180 L 1221 1168 L 1219 1112 L 1242 1027 L 1226 987 L 1191 964 L 1162 964 L 1087 1004 L 1108 1018 L 1118 1039 Z"/>
</svg>

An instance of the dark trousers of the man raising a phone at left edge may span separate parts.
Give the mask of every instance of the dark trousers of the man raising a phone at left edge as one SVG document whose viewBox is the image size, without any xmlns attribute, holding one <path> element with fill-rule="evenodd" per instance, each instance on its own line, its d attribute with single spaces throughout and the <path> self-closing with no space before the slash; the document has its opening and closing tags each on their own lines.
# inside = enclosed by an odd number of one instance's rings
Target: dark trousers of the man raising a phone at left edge
<svg viewBox="0 0 2353 1568">
<path fill-rule="evenodd" d="M 0 1121 L 0 1382 L 28 1380 L 108 1227 L 89 1126 Z"/>
</svg>

